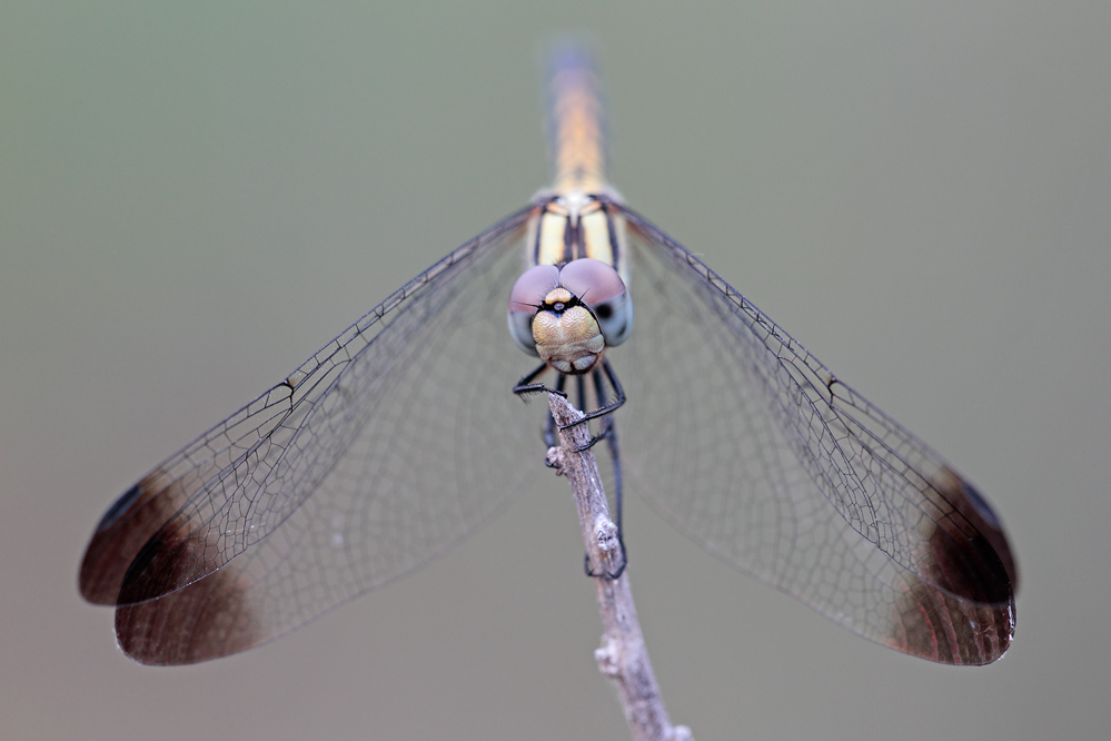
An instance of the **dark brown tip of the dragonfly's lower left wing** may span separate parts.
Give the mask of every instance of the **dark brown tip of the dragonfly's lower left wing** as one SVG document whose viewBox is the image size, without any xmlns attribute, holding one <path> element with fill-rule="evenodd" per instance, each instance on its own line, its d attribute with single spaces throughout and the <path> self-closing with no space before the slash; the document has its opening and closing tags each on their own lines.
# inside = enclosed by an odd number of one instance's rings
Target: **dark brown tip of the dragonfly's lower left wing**
<svg viewBox="0 0 1111 741">
<path fill-rule="evenodd" d="M 157 600 L 116 609 L 116 638 L 142 664 L 191 664 L 244 651 L 266 640 L 249 581 L 224 569 Z"/>
</svg>

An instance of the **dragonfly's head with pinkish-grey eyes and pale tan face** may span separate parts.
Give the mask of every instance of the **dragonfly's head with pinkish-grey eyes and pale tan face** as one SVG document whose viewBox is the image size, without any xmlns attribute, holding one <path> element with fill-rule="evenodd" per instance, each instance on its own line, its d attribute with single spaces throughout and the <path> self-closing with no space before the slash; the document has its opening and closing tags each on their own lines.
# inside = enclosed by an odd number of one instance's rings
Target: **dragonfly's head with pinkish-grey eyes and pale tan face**
<svg viewBox="0 0 1111 741">
<path fill-rule="evenodd" d="M 633 329 L 633 302 L 617 270 L 581 258 L 526 270 L 509 294 L 509 334 L 559 373 L 587 373 Z"/>
</svg>

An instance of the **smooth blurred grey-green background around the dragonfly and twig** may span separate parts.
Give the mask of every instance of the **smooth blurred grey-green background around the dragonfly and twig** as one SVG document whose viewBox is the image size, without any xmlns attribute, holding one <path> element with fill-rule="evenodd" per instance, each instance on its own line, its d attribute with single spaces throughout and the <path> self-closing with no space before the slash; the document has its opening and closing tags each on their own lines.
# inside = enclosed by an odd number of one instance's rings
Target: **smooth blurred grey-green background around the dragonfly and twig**
<svg viewBox="0 0 1111 741">
<path fill-rule="evenodd" d="M 179 4 L 0 9 L 0 735 L 625 738 L 554 478 L 198 666 L 133 664 L 75 585 L 119 492 L 546 184 L 537 49 L 585 30 L 629 204 L 975 481 L 1022 570 L 1006 658 L 940 666 L 633 496 L 672 718 L 702 741 L 1105 738 L 1111 4 Z"/>
</svg>

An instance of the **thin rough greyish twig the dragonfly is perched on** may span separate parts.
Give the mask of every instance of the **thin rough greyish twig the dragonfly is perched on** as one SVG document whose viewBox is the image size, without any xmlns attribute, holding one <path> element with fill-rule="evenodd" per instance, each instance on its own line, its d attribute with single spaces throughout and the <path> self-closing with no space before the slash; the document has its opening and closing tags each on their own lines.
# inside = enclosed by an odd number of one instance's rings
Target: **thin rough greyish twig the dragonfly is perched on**
<svg viewBox="0 0 1111 741">
<path fill-rule="evenodd" d="M 583 417 L 567 399 L 548 394 L 548 404 L 556 425 L 566 425 Z M 597 462 L 589 449 L 581 451 L 591 439 L 588 426 L 575 425 L 559 433 L 559 447 L 548 451 L 548 462 L 567 477 L 575 493 L 578 521 L 589 562 L 598 571 L 616 573 L 624 554 L 617 543 L 617 526 L 609 518 L 606 493 L 598 475 Z M 614 681 L 625 710 L 625 720 L 636 741 L 692 741 L 691 729 L 672 725 L 659 696 L 659 686 L 652 673 L 648 650 L 644 645 L 636 605 L 628 585 L 628 570 L 619 579 L 604 576 L 594 580 L 602 613 L 602 648 L 594 652 L 598 669 Z"/>
</svg>

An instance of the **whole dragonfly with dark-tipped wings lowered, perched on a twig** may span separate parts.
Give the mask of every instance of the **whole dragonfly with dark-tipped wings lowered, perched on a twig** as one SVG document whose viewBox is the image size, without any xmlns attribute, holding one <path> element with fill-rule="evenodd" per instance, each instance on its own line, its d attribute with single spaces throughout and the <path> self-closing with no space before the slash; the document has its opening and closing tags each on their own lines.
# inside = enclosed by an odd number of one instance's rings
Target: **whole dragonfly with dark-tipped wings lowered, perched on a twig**
<svg viewBox="0 0 1111 741">
<path fill-rule="evenodd" d="M 588 49 L 550 55 L 546 97 L 549 189 L 108 508 L 79 587 L 122 650 L 232 654 L 444 555 L 543 471 L 553 423 L 518 397 L 553 391 L 589 411 L 618 525 L 627 488 L 865 639 L 1003 655 L 1018 570 L 986 498 L 625 205 Z"/>
</svg>

